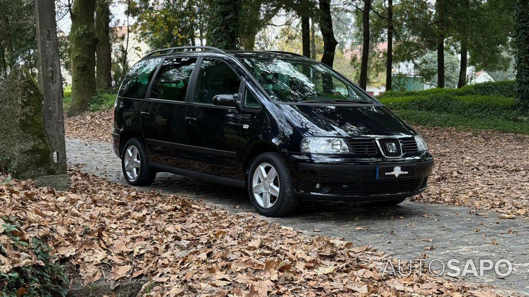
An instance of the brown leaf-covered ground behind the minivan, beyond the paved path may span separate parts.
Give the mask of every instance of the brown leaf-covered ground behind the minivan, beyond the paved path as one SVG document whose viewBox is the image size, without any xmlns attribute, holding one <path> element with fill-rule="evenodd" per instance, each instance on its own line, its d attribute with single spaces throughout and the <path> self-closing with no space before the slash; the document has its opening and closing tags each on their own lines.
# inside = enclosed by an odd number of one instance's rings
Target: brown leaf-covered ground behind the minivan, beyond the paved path
<svg viewBox="0 0 529 297">
<path fill-rule="evenodd" d="M 66 136 L 111 141 L 112 114 L 65 121 Z M 495 131 L 418 127 L 435 157 L 428 188 L 412 200 L 490 209 L 529 217 L 529 136 Z"/>
</svg>

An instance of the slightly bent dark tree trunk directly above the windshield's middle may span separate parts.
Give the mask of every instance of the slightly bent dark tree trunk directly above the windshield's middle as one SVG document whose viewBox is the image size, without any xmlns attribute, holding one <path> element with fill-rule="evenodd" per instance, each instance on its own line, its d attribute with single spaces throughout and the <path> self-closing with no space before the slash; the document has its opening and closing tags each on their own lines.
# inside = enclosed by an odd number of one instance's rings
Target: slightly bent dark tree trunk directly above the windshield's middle
<svg viewBox="0 0 529 297">
<path fill-rule="evenodd" d="M 334 63 L 334 52 L 338 41 L 334 38 L 331 16 L 331 0 L 318 0 L 320 4 L 320 30 L 323 36 L 322 63 L 332 67 Z"/>
</svg>

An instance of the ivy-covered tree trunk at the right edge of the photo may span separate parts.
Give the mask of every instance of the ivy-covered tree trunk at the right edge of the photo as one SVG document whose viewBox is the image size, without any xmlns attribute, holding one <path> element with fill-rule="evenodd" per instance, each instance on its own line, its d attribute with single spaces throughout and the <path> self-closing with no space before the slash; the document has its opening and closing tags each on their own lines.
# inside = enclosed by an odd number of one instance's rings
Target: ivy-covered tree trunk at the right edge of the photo
<svg viewBox="0 0 529 297">
<path fill-rule="evenodd" d="M 514 13 L 516 106 L 529 111 L 529 2 L 516 0 Z"/>
</svg>

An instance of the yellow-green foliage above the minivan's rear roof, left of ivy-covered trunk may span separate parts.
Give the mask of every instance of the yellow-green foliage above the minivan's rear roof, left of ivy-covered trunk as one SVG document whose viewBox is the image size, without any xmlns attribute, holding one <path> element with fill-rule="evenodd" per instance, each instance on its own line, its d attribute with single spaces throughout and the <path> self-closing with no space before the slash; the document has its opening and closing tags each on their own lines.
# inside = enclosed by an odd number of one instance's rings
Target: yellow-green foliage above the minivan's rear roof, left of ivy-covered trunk
<svg viewBox="0 0 529 297">
<path fill-rule="evenodd" d="M 196 17 L 204 11 L 204 1 L 137 0 L 131 4 L 139 36 L 152 49 L 194 45 Z"/>
</svg>

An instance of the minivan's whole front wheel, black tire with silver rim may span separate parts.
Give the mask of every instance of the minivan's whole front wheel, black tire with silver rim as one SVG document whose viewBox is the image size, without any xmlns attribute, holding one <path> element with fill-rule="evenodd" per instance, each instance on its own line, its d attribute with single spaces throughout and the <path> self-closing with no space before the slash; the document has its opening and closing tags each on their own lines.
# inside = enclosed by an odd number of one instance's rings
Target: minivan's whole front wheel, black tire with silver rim
<svg viewBox="0 0 529 297">
<path fill-rule="evenodd" d="M 257 171 L 258 169 L 259 171 Z M 264 169 L 264 173 L 262 169 Z M 275 170 L 275 175 L 272 169 Z M 294 195 L 290 173 L 285 161 L 279 154 L 265 152 L 257 156 L 250 166 L 247 180 L 250 201 L 261 215 L 286 216 L 296 209 L 298 199 Z M 256 187 L 256 191 L 254 191 L 254 187 Z"/>
</svg>

